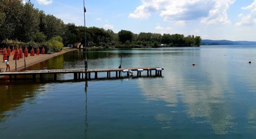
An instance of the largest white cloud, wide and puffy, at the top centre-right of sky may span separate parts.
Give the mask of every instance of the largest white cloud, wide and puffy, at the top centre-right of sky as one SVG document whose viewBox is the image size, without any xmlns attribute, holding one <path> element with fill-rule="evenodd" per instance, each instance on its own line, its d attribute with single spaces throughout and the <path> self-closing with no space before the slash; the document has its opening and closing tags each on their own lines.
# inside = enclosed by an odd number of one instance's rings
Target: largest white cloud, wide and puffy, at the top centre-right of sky
<svg viewBox="0 0 256 139">
<path fill-rule="evenodd" d="M 129 18 L 148 19 L 160 13 L 165 21 L 202 19 L 202 23 L 230 23 L 227 10 L 235 0 L 142 0 Z"/>
</svg>

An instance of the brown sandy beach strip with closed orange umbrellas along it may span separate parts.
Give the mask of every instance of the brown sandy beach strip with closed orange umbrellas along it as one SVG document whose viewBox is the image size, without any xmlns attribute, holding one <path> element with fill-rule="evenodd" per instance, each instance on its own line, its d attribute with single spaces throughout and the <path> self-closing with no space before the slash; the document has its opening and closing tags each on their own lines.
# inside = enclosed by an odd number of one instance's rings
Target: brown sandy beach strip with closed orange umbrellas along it
<svg viewBox="0 0 256 139">
<path fill-rule="evenodd" d="M 67 49 L 67 50 L 62 50 L 61 52 L 55 52 L 54 54 L 44 54 L 44 55 L 39 55 L 39 56 L 30 56 L 28 54 L 28 57 L 26 57 L 26 67 L 32 66 L 36 63 L 43 62 L 47 59 L 50 59 L 52 57 L 59 56 L 61 54 L 64 54 L 69 51 L 74 51 L 77 49 Z M 10 71 L 15 71 L 15 60 L 13 60 L 13 55 L 9 57 L 9 65 L 10 65 Z M 6 64 L 3 62 L 3 55 L 0 56 L 0 68 L 4 68 L 6 70 Z M 17 71 L 24 69 L 24 56 L 20 60 L 17 60 Z"/>
</svg>

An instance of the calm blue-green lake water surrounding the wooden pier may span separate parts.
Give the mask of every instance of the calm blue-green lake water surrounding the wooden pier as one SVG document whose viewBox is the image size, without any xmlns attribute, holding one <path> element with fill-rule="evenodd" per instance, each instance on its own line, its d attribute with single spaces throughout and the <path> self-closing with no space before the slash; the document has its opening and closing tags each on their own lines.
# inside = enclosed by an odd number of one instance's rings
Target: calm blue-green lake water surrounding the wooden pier
<svg viewBox="0 0 256 139">
<path fill-rule="evenodd" d="M 256 46 L 98 50 L 88 66 L 117 68 L 121 52 L 122 67 L 162 67 L 162 77 L 2 80 L 0 139 L 256 138 Z M 84 68 L 83 59 L 73 51 L 29 69 Z"/>
</svg>

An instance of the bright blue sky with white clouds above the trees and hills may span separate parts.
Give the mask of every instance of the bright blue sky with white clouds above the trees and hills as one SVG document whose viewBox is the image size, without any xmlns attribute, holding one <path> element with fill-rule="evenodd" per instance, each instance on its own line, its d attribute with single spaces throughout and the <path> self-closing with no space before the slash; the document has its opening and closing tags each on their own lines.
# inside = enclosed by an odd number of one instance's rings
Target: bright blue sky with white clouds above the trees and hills
<svg viewBox="0 0 256 139">
<path fill-rule="evenodd" d="M 26 1 L 26 0 L 25 0 Z M 36 8 L 83 25 L 83 0 L 31 0 Z M 179 33 L 256 41 L 256 0 L 85 0 L 86 26 L 119 32 Z"/>
</svg>

